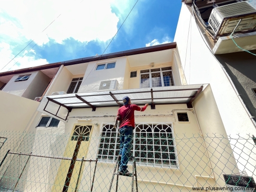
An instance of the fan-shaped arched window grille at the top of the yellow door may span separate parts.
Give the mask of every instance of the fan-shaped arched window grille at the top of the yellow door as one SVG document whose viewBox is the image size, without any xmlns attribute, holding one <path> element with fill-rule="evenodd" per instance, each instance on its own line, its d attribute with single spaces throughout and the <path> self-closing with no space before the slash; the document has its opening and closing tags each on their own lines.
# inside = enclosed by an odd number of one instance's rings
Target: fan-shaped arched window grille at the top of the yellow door
<svg viewBox="0 0 256 192">
<path fill-rule="evenodd" d="M 83 135 L 82 141 L 89 141 L 91 130 L 91 125 L 76 125 L 71 137 L 71 141 L 77 141 L 79 135 Z"/>
</svg>

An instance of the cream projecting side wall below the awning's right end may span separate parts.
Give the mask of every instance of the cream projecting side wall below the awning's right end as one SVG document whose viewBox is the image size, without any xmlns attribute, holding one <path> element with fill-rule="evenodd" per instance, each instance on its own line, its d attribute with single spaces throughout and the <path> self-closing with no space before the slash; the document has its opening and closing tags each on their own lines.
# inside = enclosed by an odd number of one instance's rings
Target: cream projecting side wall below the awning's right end
<svg viewBox="0 0 256 192">
<path fill-rule="evenodd" d="M 215 177 L 220 187 L 225 186 L 222 173 L 239 173 L 239 169 L 235 166 L 237 162 L 234 157 L 240 159 L 240 161 L 241 158 L 233 154 L 210 85 L 207 85 L 205 90 L 196 98 L 194 108 L 201 133 L 206 137 L 205 146 L 214 171 L 214 174 L 211 176 Z M 209 139 L 208 137 L 213 139 Z M 217 164 L 218 166 L 216 166 Z"/>
</svg>

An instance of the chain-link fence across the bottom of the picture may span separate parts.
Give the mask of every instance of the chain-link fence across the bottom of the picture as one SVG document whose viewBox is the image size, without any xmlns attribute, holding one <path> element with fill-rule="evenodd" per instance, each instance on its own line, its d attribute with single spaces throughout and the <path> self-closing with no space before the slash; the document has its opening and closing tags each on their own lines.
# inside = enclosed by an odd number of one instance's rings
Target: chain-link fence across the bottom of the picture
<svg viewBox="0 0 256 192">
<path fill-rule="evenodd" d="M 131 155 L 135 157 L 138 192 L 256 192 L 256 144 L 249 135 L 175 135 L 137 126 Z M 156 126 L 155 126 L 156 127 Z M 155 129 L 154 127 L 154 129 Z M 139 129 L 140 128 L 140 129 Z M 163 132 L 161 130 L 165 129 Z M 86 131 L 87 130 L 87 131 Z M 2 192 L 109 192 L 119 154 L 113 125 L 99 137 L 90 126 L 73 134 L 0 132 Z M 132 171 L 132 162 L 128 169 Z M 118 191 L 131 192 L 132 177 L 119 176 Z"/>
</svg>

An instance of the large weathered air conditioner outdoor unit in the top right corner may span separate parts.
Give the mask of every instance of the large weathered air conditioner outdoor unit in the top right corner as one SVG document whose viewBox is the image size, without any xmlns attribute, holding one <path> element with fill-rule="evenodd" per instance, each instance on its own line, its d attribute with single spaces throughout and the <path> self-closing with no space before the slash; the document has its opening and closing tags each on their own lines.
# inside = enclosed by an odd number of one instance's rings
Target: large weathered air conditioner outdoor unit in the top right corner
<svg viewBox="0 0 256 192">
<path fill-rule="evenodd" d="M 236 32 L 256 30 L 256 0 L 216 7 L 211 11 L 208 23 L 216 37 L 230 35 L 240 19 L 242 21 L 236 28 Z"/>
</svg>

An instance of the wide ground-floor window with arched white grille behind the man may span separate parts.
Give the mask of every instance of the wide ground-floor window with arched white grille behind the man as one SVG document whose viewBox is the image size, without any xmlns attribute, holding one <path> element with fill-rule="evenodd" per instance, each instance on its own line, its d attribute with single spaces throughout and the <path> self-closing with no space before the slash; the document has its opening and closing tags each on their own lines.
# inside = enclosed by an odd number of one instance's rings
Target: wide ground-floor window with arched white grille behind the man
<svg viewBox="0 0 256 192">
<path fill-rule="evenodd" d="M 138 124 L 134 130 L 132 154 L 139 165 L 177 167 L 171 124 Z M 119 154 L 118 128 L 105 124 L 98 149 L 101 161 L 114 161 Z"/>
</svg>

